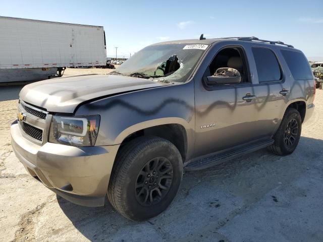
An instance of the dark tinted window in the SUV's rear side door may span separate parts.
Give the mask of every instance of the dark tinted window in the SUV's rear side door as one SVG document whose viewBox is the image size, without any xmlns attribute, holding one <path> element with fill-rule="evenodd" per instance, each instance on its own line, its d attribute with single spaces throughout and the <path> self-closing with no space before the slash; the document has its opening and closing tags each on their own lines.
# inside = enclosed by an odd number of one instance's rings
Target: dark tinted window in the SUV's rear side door
<svg viewBox="0 0 323 242">
<path fill-rule="evenodd" d="M 256 62 L 259 82 L 280 81 L 282 78 L 281 68 L 276 55 L 271 49 L 252 47 L 252 53 Z"/>
</svg>

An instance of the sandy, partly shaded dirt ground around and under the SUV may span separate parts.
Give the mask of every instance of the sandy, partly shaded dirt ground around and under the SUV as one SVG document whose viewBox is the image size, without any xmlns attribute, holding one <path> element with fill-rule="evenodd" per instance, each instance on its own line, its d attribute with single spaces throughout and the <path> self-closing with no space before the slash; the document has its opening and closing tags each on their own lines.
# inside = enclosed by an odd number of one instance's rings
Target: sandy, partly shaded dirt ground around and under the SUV
<svg viewBox="0 0 323 242">
<path fill-rule="evenodd" d="M 109 69 L 68 69 L 66 76 Z M 132 222 L 74 205 L 25 171 L 10 143 L 18 92 L 0 87 L 0 241 L 323 241 L 323 90 L 292 155 L 266 149 L 186 172 L 170 208 Z M 15 89 L 16 88 L 16 89 Z M 16 96 L 15 96 L 16 95 Z"/>
</svg>

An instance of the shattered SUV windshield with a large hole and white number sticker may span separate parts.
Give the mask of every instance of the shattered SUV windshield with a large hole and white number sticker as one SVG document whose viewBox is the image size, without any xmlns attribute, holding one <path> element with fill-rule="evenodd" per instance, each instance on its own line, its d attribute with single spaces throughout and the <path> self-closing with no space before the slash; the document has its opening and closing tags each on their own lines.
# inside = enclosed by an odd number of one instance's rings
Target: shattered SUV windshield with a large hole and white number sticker
<svg viewBox="0 0 323 242">
<path fill-rule="evenodd" d="M 159 82 L 185 82 L 208 45 L 150 45 L 129 58 L 110 75 L 152 79 Z"/>
</svg>

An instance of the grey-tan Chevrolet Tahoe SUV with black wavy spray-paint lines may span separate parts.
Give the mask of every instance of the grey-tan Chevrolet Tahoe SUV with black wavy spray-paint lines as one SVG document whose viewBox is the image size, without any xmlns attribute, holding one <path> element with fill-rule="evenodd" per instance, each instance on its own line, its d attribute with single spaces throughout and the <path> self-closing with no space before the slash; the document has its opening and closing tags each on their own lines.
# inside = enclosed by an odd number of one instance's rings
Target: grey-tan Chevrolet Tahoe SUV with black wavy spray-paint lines
<svg viewBox="0 0 323 242">
<path fill-rule="evenodd" d="M 20 92 L 12 146 L 27 171 L 63 198 L 132 220 L 163 212 L 183 169 L 264 147 L 296 148 L 314 109 L 304 54 L 248 38 L 145 47 L 110 75 L 46 80 Z"/>
</svg>

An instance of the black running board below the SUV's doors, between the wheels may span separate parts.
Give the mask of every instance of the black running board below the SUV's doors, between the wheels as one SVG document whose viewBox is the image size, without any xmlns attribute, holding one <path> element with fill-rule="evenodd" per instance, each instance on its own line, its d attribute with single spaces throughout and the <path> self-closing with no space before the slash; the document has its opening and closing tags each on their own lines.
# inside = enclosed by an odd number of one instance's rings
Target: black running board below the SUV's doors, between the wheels
<svg viewBox="0 0 323 242">
<path fill-rule="evenodd" d="M 208 168 L 213 165 L 220 164 L 224 161 L 236 158 L 238 156 L 251 153 L 253 151 L 262 149 L 264 147 L 270 146 L 274 143 L 273 139 L 266 139 L 256 142 L 247 143 L 245 145 L 237 146 L 235 148 L 227 149 L 225 151 L 220 151 L 212 153 L 207 156 L 198 157 L 193 159 L 185 165 L 185 170 L 201 170 Z"/>
</svg>

